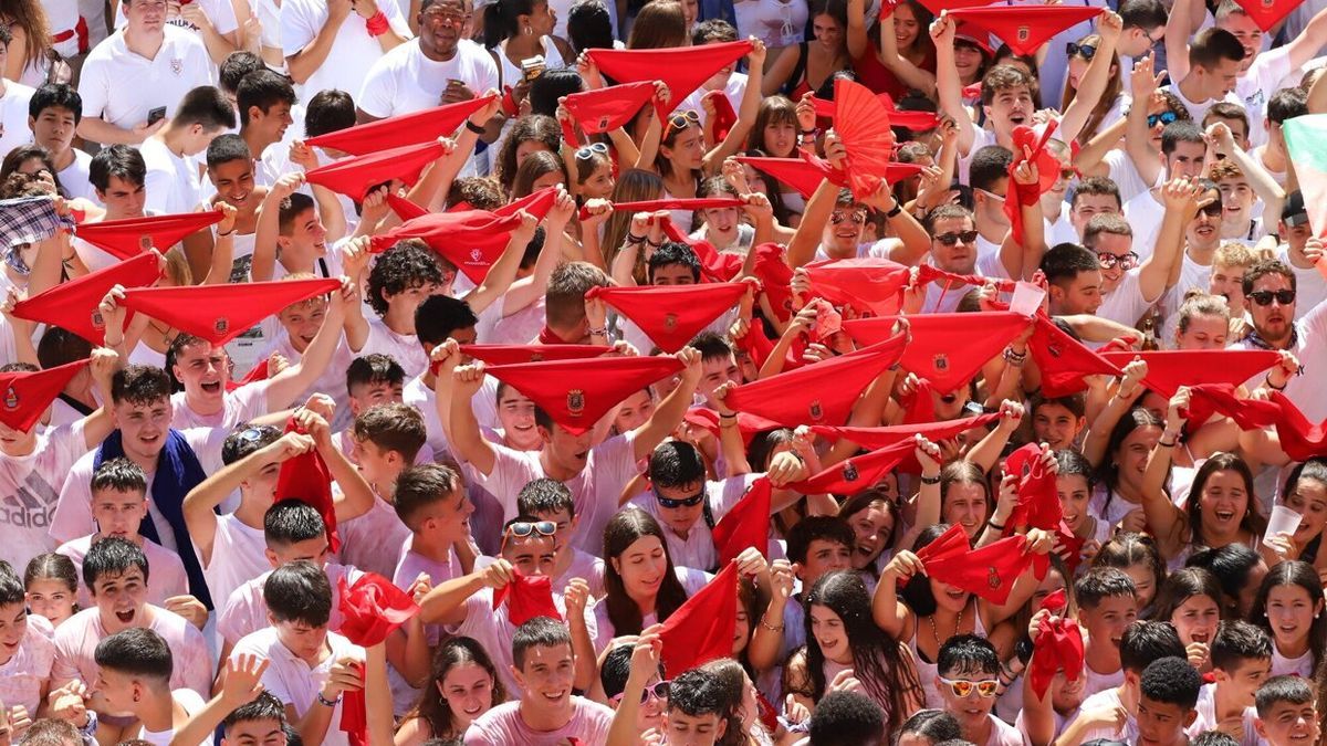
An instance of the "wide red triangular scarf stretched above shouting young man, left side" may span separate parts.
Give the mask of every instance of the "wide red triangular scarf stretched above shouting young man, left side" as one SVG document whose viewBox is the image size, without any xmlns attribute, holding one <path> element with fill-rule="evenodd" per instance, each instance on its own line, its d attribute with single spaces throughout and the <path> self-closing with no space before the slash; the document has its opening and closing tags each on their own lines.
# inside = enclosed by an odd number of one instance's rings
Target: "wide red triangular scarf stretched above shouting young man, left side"
<svg viewBox="0 0 1327 746">
<path fill-rule="evenodd" d="M 276 280 L 238 285 L 130 288 L 125 308 L 224 345 L 292 303 L 341 288 L 341 280 Z"/>
</svg>

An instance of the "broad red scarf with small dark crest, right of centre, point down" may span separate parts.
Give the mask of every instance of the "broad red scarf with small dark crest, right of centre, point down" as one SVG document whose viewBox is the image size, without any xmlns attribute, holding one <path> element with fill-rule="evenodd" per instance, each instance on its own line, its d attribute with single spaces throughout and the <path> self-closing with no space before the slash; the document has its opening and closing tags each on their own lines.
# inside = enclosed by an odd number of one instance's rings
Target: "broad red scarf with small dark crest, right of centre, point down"
<svg viewBox="0 0 1327 746">
<path fill-rule="evenodd" d="M 894 321 L 897 319 L 849 320 L 843 328 L 859 344 L 872 344 L 884 338 Z M 971 381 L 1027 328 L 1027 319 L 1009 311 L 924 313 L 909 316 L 908 321 L 912 341 L 904 350 L 902 366 L 930 381 L 942 396 Z"/>
</svg>

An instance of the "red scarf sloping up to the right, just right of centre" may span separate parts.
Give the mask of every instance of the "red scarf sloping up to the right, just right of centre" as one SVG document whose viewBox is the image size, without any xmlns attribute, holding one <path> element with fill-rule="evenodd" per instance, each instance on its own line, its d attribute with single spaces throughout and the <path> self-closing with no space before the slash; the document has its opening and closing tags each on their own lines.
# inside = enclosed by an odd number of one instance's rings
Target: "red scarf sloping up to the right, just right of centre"
<svg viewBox="0 0 1327 746">
<path fill-rule="evenodd" d="M 759 414 L 787 426 L 840 425 L 857 404 L 857 396 L 886 368 L 898 362 L 906 335 L 780 373 L 729 392 L 725 402 L 734 411 Z"/>
</svg>

